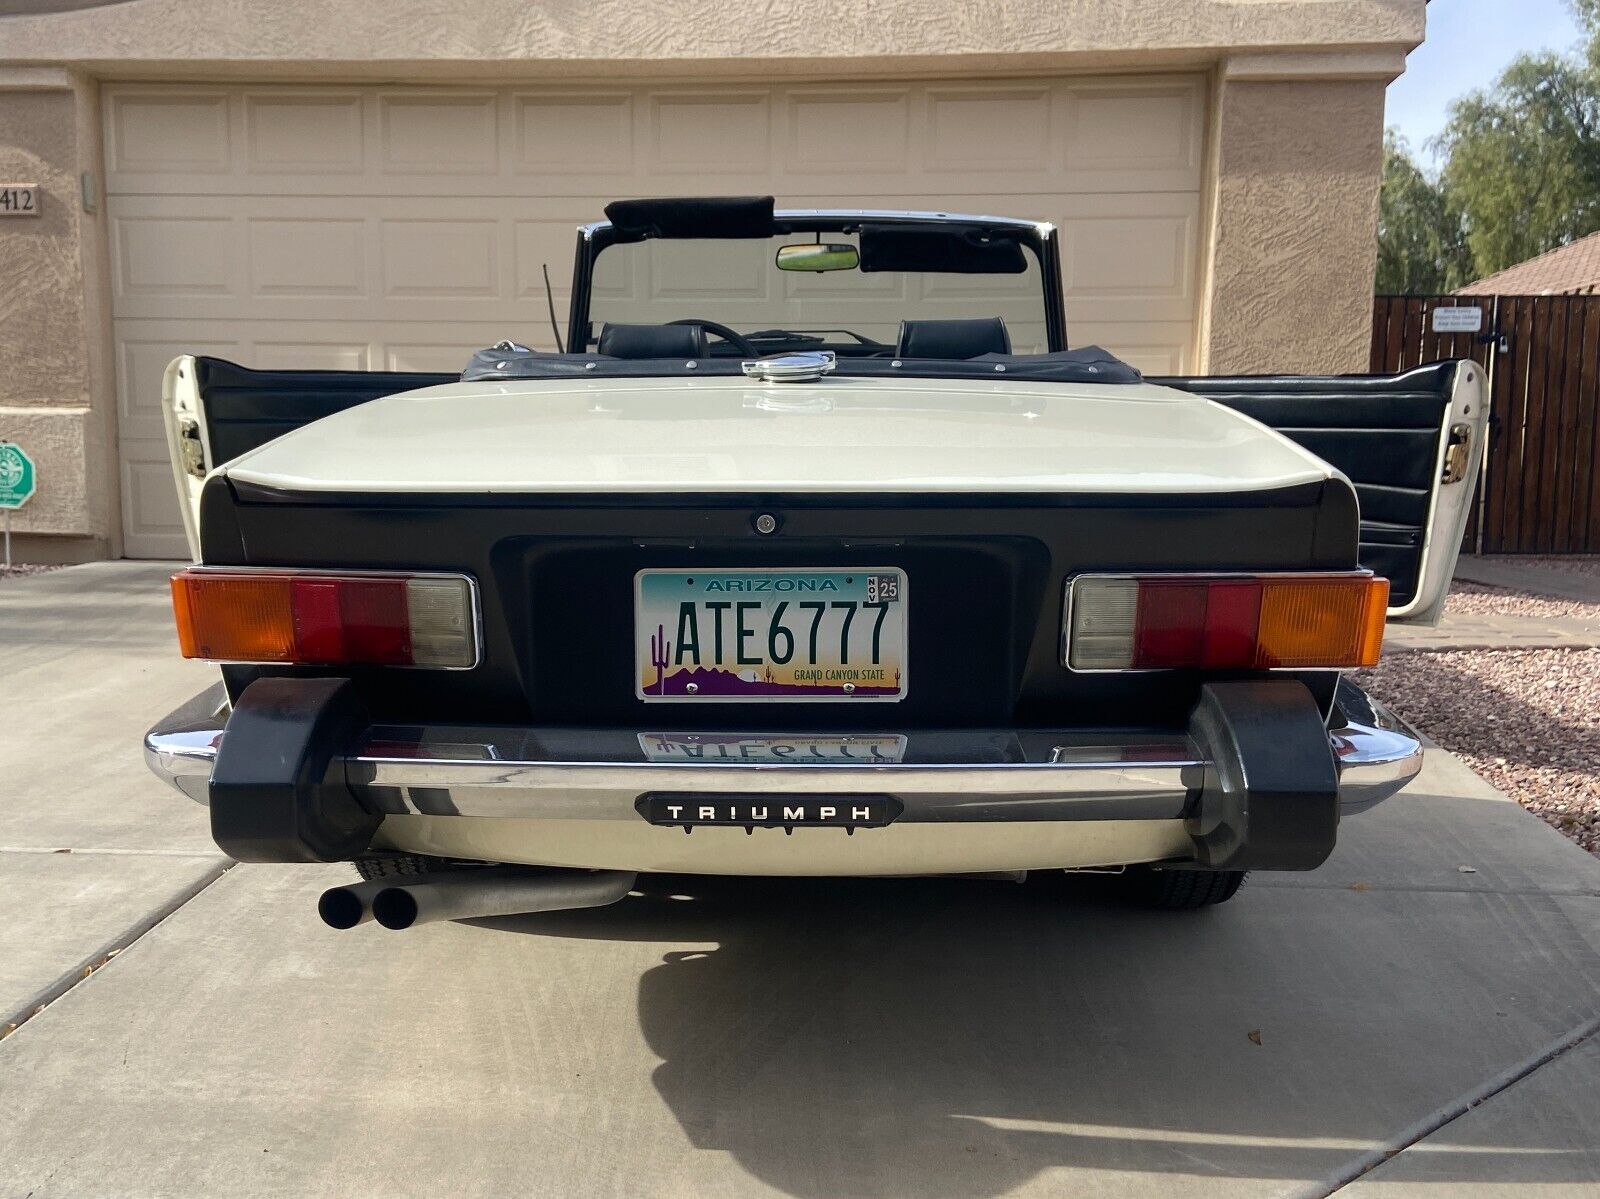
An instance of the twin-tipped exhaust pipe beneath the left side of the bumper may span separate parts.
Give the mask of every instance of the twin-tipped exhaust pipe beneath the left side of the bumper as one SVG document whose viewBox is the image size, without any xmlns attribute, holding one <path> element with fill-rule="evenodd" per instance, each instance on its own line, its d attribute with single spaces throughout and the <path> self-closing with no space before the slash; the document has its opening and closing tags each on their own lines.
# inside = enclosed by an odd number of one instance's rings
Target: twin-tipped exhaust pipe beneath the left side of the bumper
<svg viewBox="0 0 1600 1199">
<path fill-rule="evenodd" d="M 635 879 L 632 871 L 483 866 L 418 874 L 414 882 L 370 879 L 330 887 L 317 900 L 317 914 L 330 928 L 354 928 L 378 920 L 384 928 L 398 930 L 434 920 L 603 908 L 627 895 Z"/>
</svg>

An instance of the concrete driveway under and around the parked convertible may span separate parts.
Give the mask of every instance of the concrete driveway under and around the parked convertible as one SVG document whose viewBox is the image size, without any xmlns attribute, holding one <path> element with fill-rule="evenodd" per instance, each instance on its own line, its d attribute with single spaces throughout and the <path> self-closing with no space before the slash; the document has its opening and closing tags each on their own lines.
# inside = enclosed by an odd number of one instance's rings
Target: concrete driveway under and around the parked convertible
<svg viewBox="0 0 1600 1199">
<path fill-rule="evenodd" d="M 661 877 L 336 933 L 349 868 L 224 874 L 139 764 L 210 680 L 163 573 L 0 584 L 0 1010 L 59 996 L 0 1194 L 1600 1194 L 1600 861 L 1448 754 L 1194 916 Z"/>
</svg>

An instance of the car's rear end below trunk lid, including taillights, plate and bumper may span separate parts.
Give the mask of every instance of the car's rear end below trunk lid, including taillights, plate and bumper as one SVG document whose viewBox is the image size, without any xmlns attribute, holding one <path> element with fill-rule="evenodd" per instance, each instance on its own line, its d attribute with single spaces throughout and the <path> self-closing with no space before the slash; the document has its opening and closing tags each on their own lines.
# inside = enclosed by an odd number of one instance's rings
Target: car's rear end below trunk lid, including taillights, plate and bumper
<svg viewBox="0 0 1600 1199">
<path fill-rule="evenodd" d="M 1382 628 L 1357 528 L 1331 471 L 648 495 L 218 474 L 174 597 L 226 693 L 147 754 L 251 861 L 1310 869 L 1421 762 L 1341 684 Z"/>
</svg>

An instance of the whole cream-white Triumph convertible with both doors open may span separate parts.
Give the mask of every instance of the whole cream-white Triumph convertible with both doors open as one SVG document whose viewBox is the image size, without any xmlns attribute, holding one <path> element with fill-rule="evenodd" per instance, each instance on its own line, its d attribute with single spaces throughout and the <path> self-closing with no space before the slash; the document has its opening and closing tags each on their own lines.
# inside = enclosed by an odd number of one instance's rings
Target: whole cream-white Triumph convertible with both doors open
<svg viewBox="0 0 1600 1199">
<path fill-rule="evenodd" d="M 555 352 L 168 368 L 178 634 L 222 679 L 146 754 L 227 853 L 354 863 L 336 927 L 640 871 L 1176 909 L 1416 775 L 1342 672 L 1438 616 L 1478 367 L 1147 379 L 1069 347 L 1046 224 L 606 216 Z"/>
</svg>

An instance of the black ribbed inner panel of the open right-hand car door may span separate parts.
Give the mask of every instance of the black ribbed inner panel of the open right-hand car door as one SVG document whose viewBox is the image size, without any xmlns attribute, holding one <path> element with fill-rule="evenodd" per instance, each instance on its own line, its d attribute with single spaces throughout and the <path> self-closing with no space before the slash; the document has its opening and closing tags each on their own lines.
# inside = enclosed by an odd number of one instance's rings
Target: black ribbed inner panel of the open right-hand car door
<svg viewBox="0 0 1600 1199">
<path fill-rule="evenodd" d="M 1362 504 L 1362 565 L 1416 595 L 1456 362 L 1405 375 L 1150 379 L 1205 395 L 1290 437 L 1349 475 Z"/>
</svg>

